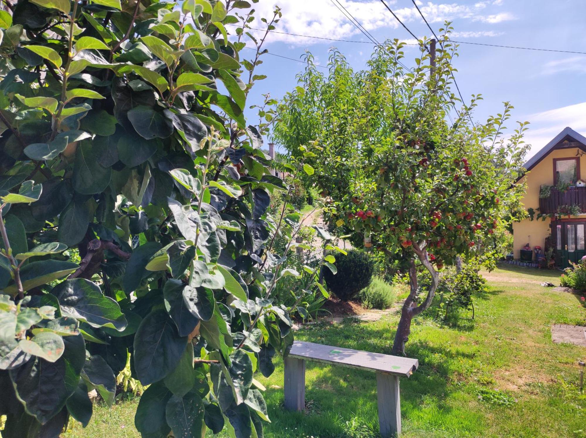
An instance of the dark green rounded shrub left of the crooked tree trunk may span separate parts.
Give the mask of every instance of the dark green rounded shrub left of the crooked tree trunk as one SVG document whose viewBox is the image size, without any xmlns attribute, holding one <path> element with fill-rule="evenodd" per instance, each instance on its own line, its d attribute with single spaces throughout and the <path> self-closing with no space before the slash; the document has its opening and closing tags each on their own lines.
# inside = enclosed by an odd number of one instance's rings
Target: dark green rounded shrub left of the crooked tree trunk
<svg viewBox="0 0 586 438">
<path fill-rule="evenodd" d="M 366 252 L 350 249 L 347 255 L 334 254 L 336 269 L 334 275 L 329 269 L 323 269 L 329 290 L 340 300 L 352 299 L 360 290 L 369 285 L 374 273 L 374 262 Z"/>
</svg>

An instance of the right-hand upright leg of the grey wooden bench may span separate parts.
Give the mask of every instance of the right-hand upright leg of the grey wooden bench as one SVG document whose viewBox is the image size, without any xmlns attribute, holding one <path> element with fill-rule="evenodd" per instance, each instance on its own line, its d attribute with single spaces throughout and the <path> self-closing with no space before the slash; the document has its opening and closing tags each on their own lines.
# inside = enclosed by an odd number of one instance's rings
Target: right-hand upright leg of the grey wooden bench
<svg viewBox="0 0 586 438">
<path fill-rule="evenodd" d="M 376 392 L 379 399 L 380 434 L 383 438 L 398 437 L 401 434 L 398 376 L 377 372 Z"/>
</svg>

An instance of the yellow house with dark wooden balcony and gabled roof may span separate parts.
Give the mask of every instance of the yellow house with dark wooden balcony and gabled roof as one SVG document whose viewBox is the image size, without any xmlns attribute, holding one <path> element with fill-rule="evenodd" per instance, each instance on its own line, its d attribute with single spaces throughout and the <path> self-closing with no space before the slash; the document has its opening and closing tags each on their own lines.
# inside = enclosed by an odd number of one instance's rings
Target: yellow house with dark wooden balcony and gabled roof
<svg viewBox="0 0 586 438">
<path fill-rule="evenodd" d="M 526 244 L 544 253 L 553 248 L 556 265 L 565 268 L 586 254 L 586 137 L 565 128 L 525 168 L 522 201 L 533 218 L 513 223 L 513 254 L 520 259 Z"/>
</svg>

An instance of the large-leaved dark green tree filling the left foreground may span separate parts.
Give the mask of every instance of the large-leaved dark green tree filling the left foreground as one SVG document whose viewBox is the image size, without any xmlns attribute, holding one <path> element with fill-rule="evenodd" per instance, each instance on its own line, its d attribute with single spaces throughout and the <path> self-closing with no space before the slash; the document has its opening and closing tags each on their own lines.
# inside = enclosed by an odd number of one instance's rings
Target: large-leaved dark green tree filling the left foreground
<svg viewBox="0 0 586 438">
<path fill-rule="evenodd" d="M 86 426 L 88 391 L 111 405 L 128 354 L 150 385 L 143 436 L 262 436 L 254 372 L 270 375 L 293 341 L 272 292 L 287 275 L 301 294 L 322 290 L 320 266 L 288 268 L 301 215 L 267 213 L 291 190 L 260 149 L 270 112 L 257 126 L 243 116 L 279 9 L 257 40 L 246 1 L 5 3 L 2 436 L 57 437 L 70 416 Z"/>
</svg>

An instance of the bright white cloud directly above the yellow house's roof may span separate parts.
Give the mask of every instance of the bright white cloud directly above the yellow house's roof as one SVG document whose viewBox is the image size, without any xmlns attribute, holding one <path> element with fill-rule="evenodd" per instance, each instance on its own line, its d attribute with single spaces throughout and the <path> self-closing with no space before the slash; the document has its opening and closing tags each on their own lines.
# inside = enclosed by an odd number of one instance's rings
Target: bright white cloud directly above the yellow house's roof
<svg viewBox="0 0 586 438">
<path fill-rule="evenodd" d="M 558 135 L 566 126 L 586 135 L 586 102 L 555 108 L 530 114 L 526 117 L 531 122 L 525 141 L 532 145 L 527 158 L 535 155 L 543 146 Z M 531 129 L 531 126 L 540 126 Z"/>
</svg>

